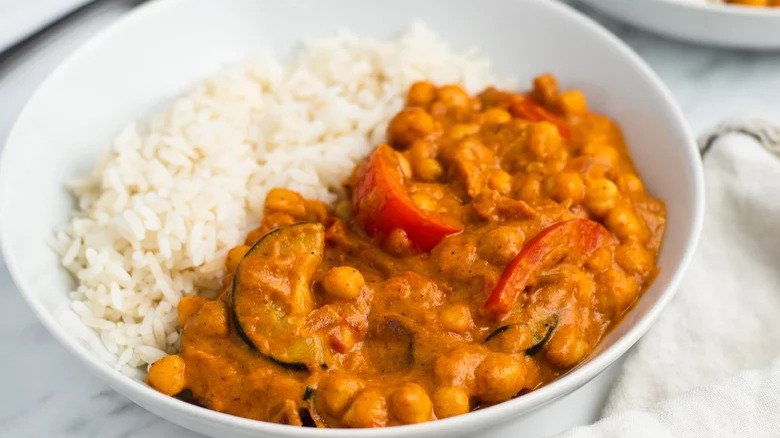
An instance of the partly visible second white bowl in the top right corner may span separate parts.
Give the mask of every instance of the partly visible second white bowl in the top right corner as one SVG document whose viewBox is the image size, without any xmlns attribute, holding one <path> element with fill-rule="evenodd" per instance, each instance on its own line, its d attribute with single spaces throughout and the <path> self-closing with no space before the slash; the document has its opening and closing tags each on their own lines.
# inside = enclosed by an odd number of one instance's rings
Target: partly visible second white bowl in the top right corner
<svg viewBox="0 0 780 438">
<path fill-rule="evenodd" d="M 672 38 L 722 47 L 780 49 L 780 8 L 701 0 L 580 0 L 636 27 Z"/>
</svg>

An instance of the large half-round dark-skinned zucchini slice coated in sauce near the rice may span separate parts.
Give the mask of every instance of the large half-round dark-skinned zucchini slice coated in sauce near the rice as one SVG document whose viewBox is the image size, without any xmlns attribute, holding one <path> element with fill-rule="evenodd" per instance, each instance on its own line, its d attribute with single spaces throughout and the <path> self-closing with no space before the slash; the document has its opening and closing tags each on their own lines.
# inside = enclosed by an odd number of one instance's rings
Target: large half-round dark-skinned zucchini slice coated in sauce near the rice
<svg viewBox="0 0 780 438">
<path fill-rule="evenodd" d="M 287 369 L 326 366 L 321 339 L 301 330 L 314 309 L 311 281 L 324 250 L 322 224 L 281 227 L 247 251 L 233 277 L 230 308 L 238 335 Z"/>
</svg>

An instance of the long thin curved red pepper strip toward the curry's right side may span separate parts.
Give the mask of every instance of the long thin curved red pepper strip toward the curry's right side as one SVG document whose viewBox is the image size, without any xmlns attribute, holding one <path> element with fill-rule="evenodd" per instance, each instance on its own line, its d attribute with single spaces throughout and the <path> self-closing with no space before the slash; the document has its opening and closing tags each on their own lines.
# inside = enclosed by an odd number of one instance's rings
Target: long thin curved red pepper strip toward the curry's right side
<svg viewBox="0 0 780 438">
<path fill-rule="evenodd" d="M 614 241 L 606 228 L 588 219 L 550 225 L 531 239 L 504 269 L 485 302 L 485 314 L 498 319 L 512 310 L 520 292 L 534 281 L 539 271 L 560 261 L 547 257 L 553 251 L 564 250 L 567 258 L 576 257 L 584 262 L 598 248 Z"/>
</svg>

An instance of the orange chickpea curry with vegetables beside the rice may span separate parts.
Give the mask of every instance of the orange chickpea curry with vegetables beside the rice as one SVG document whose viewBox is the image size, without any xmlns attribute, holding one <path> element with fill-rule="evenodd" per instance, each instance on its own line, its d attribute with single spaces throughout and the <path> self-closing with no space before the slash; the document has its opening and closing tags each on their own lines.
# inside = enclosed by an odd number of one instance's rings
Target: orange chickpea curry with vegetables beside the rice
<svg viewBox="0 0 780 438">
<path fill-rule="evenodd" d="M 663 202 L 550 75 L 525 94 L 413 84 L 344 187 L 332 208 L 268 194 L 222 293 L 179 303 L 154 388 L 291 425 L 465 414 L 576 366 L 657 271 Z"/>
</svg>

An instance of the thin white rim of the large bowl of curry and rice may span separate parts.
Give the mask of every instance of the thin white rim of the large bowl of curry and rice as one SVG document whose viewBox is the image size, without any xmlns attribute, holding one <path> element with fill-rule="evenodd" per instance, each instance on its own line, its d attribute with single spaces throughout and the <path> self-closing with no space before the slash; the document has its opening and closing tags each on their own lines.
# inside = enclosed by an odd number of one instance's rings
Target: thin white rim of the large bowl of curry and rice
<svg viewBox="0 0 780 438">
<path fill-rule="evenodd" d="M 8 187 L 8 181 L 6 181 L 8 177 L 8 171 L 6 168 L 9 166 L 7 157 L 9 155 L 9 150 L 21 147 L 20 143 L 15 140 L 17 137 L 17 131 L 19 129 L 19 121 L 28 117 L 27 114 L 31 111 L 30 107 L 32 106 L 32 103 L 37 101 L 39 96 L 47 90 L 49 84 L 53 80 L 53 77 L 58 76 L 61 71 L 69 68 L 74 60 L 87 56 L 92 51 L 93 47 L 100 41 L 111 37 L 115 33 L 123 31 L 127 26 L 130 26 L 138 21 L 143 21 L 147 16 L 151 16 L 158 11 L 163 11 L 165 8 L 174 7 L 186 1 L 188 0 L 156 0 L 136 7 L 114 23 L 97 32 L 85 43 L 80 45 L 75 51 L 62 60 L 60 64 L 58 64 L 58 66 L 54 68 L 38 85 L 14 121 L 13 127 L 6 139 L 5 147 L 0 154 L 0 211 L 8 211 L 7 209 L 3 208 L 3 205 L 6 203 L 6 197 L 4 196 L 4 193 Z M 94 375 L 98 376 L 109 386 L 119 391 L 124 396 L 130 398 L 136 403 L 138 403 L 136 400 L 145 399 L 149 400 L 148 403 L 150 404 L 165 406 L 166 412 L 178 412 L 179 414 L 184 414 L 192 418 L 199 418 L 201 421 L 207 421 L 211 424 L 233 427 L 237 428 L 238 430 L 247 432 L 267 433 L 273 434 L 275 436 L 301 438 L 397 437 L 403 433 L 445 433 L 449 430 L 454 430 L 467 425 L 471 425 L 471 427 L 484 425 L 484 427 L 487 428 L 502 423 L 500 421 L 502 418 L 517 417 L 523 413 L 540 408 L 543 405 L 568 394 L 571 392 L 572 388 L 576 389 L 584 385 L 602 371 L 604 371 L 610 364 L 616 361 L 632 345 L 634 345 L 642 337 L 642 335 L 647 332 L 650 326 L 658 318 L 661 311 L 676 294 L 676 291 L 682 280 L 682 276 L 687 270 L 687 267 L 693 257 L 702 229 L 704 218 L 704 176 L 698 149 L 682 110 L 680 109 L 669 89 L 663 84 L 663 82 L 653 72 L 653 70 L 639 57 L 639 55 L 634 53 L 628 47 L 628 45 L 626 45 L 626 43 L 621 41 L 617 36 L 612 34 L 606 28 L 591 20 L 583 13 L 575 10 L 571 6 L 559 2 L 551 2 L 548 0 L 525 1 L 535 2 L 540 5 L 540 7 L 550 8 L 554 11 L 554 13 L 564 15 L 568 19 L 577 22 L 586 30 L 596 34 L 598 37 L 603 39 L 606 45 L 612 46 L 612 48 L 617 50 L 622 57 L 626 58 L 639 69 L 640 74 L 655 88 L 655 90 L 660 94 L 661 98 L 669 107 L 672 116 L 671 121 L 674 123 L 674 125 L 677 125 L 673 126 L 676 128 L 676 130 L 680 131 L 684 135 L 684 138 L 681 138 L 681 143 L 682 145 L 687 146 L 684 151 L 684 155 L 687 161 L 686 166 L 692 173 L 691 184 L 693 189 L 692 192 L 694 205 L 692 210 L 693 214 L 690 219 L 691 234 L 688 236 L 680 263 L 675 268 L 668 285 L 661 292 L 658 301 L 648 310 L 647 314 L 645 314 L 636 322 L 636 325 L 633 328 L 617 339 L 613 345 L 602 351 L 598 356 L 592 358 L 584 365 L 571 370 L 566 375 L 553 381 L 552 383 L 536 391 L 530 392 L 522 397 L 518 397 L 516 399 L 499 403 L 485 409 L 469 412 L 467 414 L 452 418 L 415 425 L 393 426 L 379 429 L 300 428 L 237 417 L 192 405 L 176 398 L 163 395 L 162 393 L 152 389 L 150 386 L 143 384 L 143 382 L 126 376 L 109 367 L 94 354 L 88 352 L 81 344 L 78 343 L 74 337 L 68 335 L 65 330 L 63 330 L 61 325 L 56 321 L 56 319 L 48 312 L 48 310 L 44 308 L 40 300 L 36 298 L 32 292 L 30 292 L 33 288 L 29 284 L 27 278 L 22 275 L 22 272 L 17 264 L 17 257 L 8 247 L 6 243 L 8 242 L 8 239 L 4 238 L 4 236 L 7 236 L 8 233 L 6 230 L 7 222 L 3 220 L 4 215 L 0 215 L 0 250 L 2 251 L 6 266 L 11 274 L 11 278 L 19 290 L 19 293 L 27 301 L 28 305 L 33 310 L 33 313 L 35 313 L 41 324 L 46 327 L 49 333 L 62 346 L 64 346 L 66 350 L 75 355 L 82 363 L 84 363 Z M 159 415 L 158 412 L 152 413 Z"/>
</svg>

